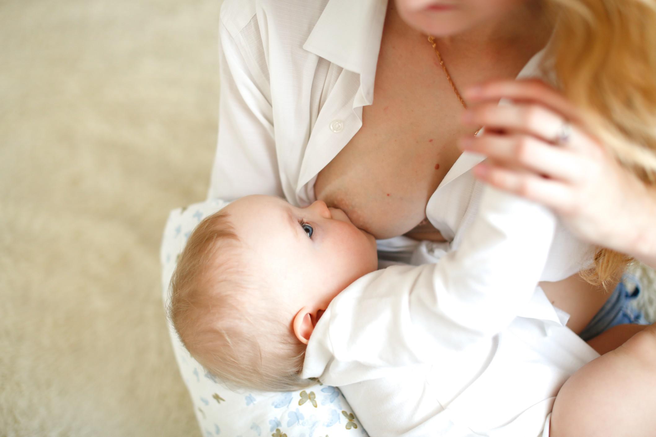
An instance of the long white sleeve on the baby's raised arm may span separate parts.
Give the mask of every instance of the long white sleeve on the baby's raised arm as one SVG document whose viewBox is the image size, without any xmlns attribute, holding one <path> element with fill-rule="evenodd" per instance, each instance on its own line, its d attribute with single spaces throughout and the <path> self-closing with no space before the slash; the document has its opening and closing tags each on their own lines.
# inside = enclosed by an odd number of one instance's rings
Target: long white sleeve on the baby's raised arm
<svg viewBox="0 0 656 437">
<path fill-rule="evenodd" d="M 459 360 L 531 300 L 555 226 L 543 206 L 485 187 L 457 250 L 436 264 L 365 275 L 333 299 L 310 337 L 303 375 L 346 385 L 385 368 Z"/>
</svg>

